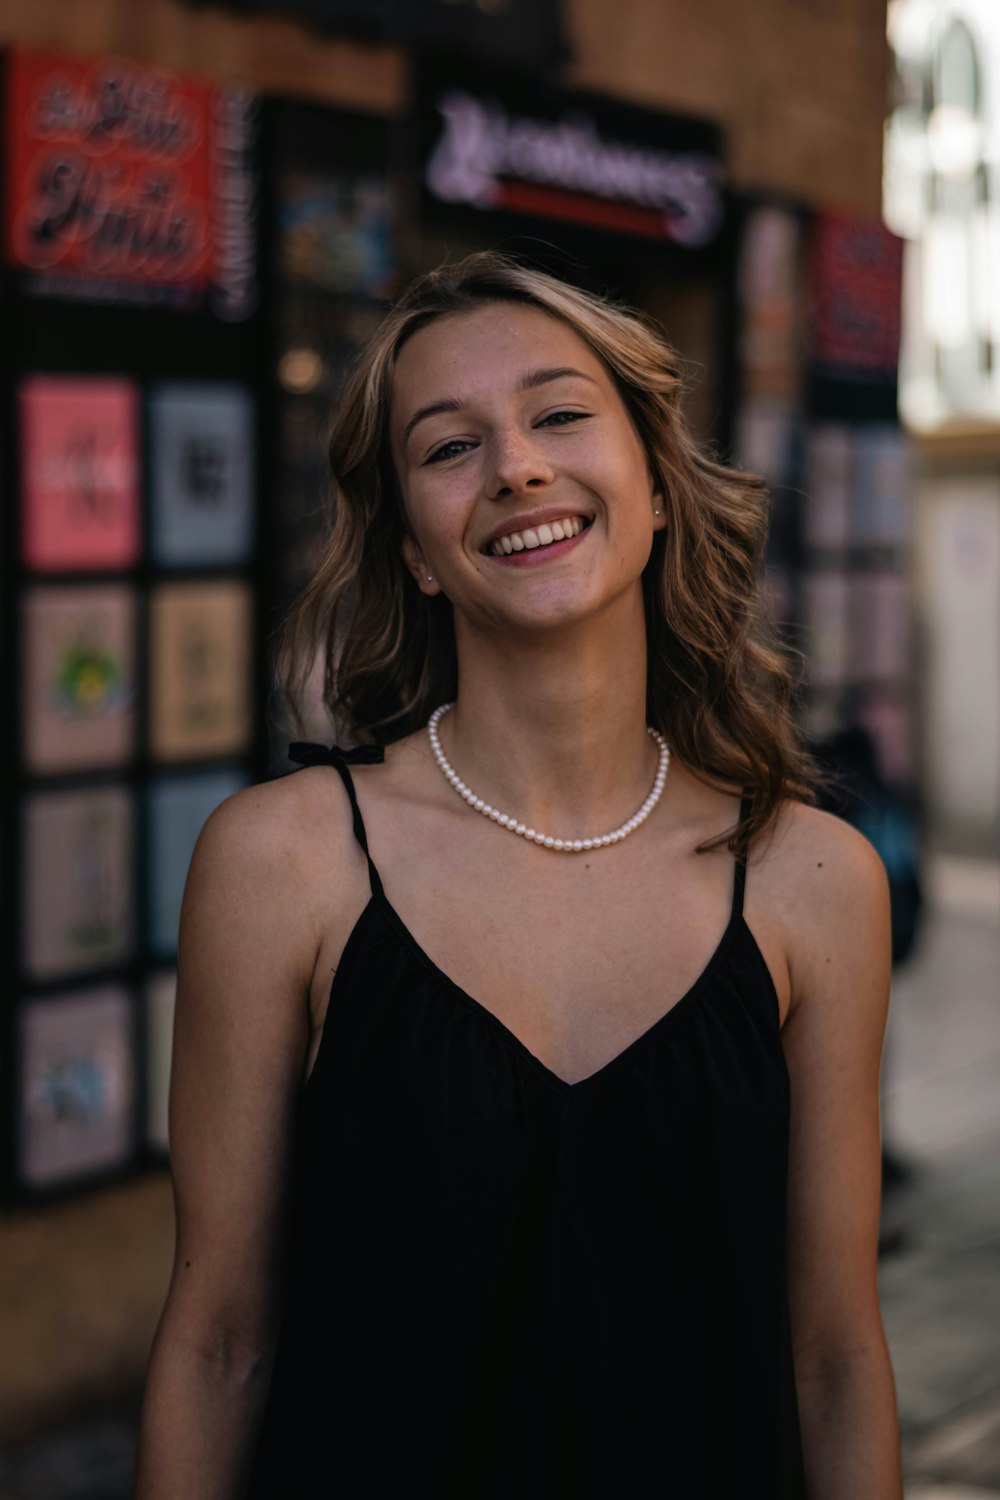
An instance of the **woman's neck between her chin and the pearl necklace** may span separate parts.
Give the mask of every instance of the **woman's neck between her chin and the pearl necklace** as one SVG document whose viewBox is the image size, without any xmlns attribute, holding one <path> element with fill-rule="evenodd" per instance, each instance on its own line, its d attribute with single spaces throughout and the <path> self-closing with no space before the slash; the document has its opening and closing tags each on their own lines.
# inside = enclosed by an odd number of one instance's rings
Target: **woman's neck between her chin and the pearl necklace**
<svg viewBox="0 0 1000 1500">
<path fill-rule="evenodd" d="M 459 776 L 544 832 L 615 828 L 648 795 L 646 636 L 636 610 L 517 642 L 459 636 L 459 698 L 441 723 Z"/>
</svg>

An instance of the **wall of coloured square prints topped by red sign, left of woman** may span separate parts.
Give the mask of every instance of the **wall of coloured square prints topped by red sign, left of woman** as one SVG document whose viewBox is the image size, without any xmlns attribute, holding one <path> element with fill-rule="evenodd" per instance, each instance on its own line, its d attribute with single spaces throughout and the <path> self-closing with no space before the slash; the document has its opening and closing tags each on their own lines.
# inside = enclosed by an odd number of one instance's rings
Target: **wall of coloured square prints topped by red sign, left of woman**
<svg viewBox="0 0 1000 1500">
<path fill-rule="evenodd" d="M 19 1202 L 163 1158 L 187 864 L 265 759 L 258 105 L 12 51 L 3 114 L 0 1052 Z M 58 212 L 66 170 L 85 225 Z"/>
</svg>

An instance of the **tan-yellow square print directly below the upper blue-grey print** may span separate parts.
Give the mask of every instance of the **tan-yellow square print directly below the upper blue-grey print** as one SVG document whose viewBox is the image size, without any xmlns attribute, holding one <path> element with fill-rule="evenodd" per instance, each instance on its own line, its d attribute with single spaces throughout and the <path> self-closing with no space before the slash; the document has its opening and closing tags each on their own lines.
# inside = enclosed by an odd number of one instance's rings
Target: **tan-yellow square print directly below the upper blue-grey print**
<svg viewBox="0 0 1000 1500">
<path fill-rule="evenodd" d="M 160 760 L 244 750 L 250 592 L 235 579 L 165 584 L 150 610 L 150 746 Z"/>
</svg>

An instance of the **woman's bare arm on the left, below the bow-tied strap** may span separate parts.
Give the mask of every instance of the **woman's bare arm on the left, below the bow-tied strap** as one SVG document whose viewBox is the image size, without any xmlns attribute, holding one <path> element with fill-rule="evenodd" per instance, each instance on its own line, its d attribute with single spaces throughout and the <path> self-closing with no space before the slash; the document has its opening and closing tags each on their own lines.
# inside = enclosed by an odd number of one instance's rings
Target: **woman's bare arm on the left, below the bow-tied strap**
<svg viewBox="0 0 1000 1500">
<path fill-rule="evenodd" d="M 169 1102 L 177 1245 L 136 1500 L 241 1494 L 267 1396 L 318 951 L 295 782 L 216 808 L 184 888 Z"/>
</svg>

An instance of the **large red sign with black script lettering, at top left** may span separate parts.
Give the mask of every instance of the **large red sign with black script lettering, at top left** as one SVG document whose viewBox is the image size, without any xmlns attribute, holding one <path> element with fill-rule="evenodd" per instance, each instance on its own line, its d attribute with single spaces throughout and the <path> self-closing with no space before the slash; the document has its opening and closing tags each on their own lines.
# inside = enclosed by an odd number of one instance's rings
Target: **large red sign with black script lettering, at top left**
<svg viewBox="0 0 1000 1500">
<path fill-rule="evenodd" d="M 213 274 L 213 96 L 205 82 L 121 57 L 12 51 L 10 262 L 54 290 L 117 284 L 202 300 Z"/>
</svg>

